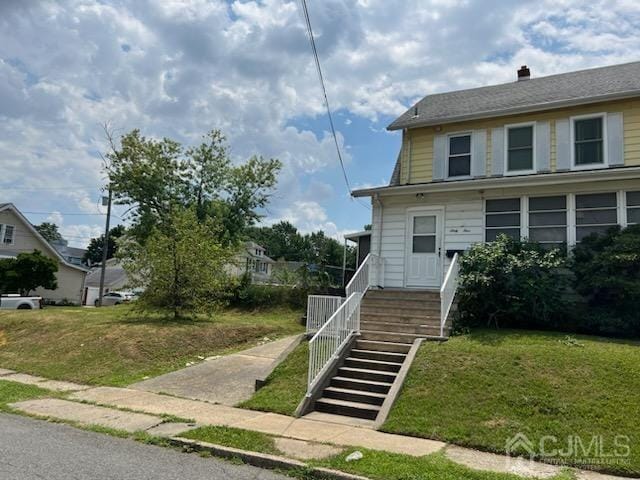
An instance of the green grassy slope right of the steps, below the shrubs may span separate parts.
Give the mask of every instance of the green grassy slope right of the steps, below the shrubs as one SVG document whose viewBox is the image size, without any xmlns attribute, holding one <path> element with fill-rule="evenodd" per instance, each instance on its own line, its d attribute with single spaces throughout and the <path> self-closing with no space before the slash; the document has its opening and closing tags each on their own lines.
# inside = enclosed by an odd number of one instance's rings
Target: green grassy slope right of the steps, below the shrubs
<svg viewBox="0 0 640 480">
<path fill-rule="evenodd" d="M 477 331 L 425 344 L 383 429 L 502 452 L 517 432 L 631 439 L 628 463 L 605 470 L 640 474 L 640 343 L 531 331 Z M 580 458 L 568 458 L 579 463 Z"/>
</svg>

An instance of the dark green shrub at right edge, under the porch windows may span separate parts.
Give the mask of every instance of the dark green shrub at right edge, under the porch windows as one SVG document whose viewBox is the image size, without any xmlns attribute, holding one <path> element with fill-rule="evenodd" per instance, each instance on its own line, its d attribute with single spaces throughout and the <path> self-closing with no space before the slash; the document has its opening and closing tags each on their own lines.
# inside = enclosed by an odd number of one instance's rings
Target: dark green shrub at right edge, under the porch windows
<svg viewBox="0 0 640 480">
<path fill-rule="evenodd" d="M 576 245 L 575 289 L 589 309 L 582 323 L 603 334 L 640 335 L 640 225 L 611 228 Z"/>
</svg>

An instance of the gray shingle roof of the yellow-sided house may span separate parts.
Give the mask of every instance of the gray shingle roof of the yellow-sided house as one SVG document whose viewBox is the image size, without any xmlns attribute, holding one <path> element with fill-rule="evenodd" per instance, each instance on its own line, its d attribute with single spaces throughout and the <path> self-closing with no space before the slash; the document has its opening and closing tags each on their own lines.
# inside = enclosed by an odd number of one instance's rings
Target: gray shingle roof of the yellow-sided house
<svg viewBox="0 0 640 480">
<path fill-rule="evenodd" d="M 438 125 L 634 96 L 640 96 L 640 62 L 428 95 L 387 128 Z"/>
</svg>

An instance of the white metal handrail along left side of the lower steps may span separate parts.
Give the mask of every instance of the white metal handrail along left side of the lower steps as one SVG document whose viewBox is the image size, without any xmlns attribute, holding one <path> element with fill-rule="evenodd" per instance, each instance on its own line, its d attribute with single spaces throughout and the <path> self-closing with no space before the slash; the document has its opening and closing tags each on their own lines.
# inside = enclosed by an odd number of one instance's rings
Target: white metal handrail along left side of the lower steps
<svg viewBox="0 0 640 480">
<path fill-rule="evenodd" d="M 309 341 L 308 394 L 338 359 L 351 336 L 360 331 L 361 300 L 361 293 L 352 293 Z"/>
</svg>

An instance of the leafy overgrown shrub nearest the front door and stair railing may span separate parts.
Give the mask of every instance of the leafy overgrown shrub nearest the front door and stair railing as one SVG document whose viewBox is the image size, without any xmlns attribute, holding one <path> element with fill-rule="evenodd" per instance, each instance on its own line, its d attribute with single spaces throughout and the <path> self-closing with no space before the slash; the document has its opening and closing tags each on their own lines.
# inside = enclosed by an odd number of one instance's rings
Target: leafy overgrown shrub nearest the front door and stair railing
<svg viewBox="0 0 640 480">
<path fill-rule="evenodd" d="M 474 245 L 460 259 L 457 329 L 557 328 L 564 313 L 565 255 L 506 235 Z"/>
</svg>

